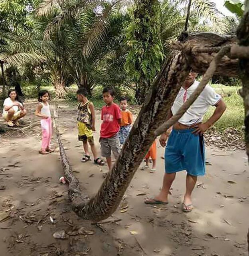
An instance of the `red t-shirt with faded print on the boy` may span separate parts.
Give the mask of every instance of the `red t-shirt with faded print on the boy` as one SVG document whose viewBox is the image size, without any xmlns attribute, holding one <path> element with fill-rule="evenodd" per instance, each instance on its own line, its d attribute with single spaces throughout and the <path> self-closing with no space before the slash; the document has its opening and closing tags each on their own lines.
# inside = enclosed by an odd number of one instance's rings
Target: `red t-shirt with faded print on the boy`
<svg viewBox="0 0 249 256">
<path fill-rule="evenodd" d="M 100 137 L 113 137 L 119 131 L 119 119 L 121 118 L 121 110 L 117 104 L 105 105 L 101 110 L 101 120 L 103 122 L 100 129 Z"/>
</svg>

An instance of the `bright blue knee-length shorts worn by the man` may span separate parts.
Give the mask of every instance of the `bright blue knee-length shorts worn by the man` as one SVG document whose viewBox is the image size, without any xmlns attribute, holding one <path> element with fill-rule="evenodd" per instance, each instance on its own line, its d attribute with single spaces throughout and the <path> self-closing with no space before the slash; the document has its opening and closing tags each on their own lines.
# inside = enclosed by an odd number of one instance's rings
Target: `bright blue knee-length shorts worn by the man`
<svg viewBox="0 0 249 256">
<path fill-rule="evenodd" d="M 165 172 L 186 170 L 193 176 L 205 175 L 204 138 L 194 129 L 172 130 L 165 149 Z"/>
</svg>

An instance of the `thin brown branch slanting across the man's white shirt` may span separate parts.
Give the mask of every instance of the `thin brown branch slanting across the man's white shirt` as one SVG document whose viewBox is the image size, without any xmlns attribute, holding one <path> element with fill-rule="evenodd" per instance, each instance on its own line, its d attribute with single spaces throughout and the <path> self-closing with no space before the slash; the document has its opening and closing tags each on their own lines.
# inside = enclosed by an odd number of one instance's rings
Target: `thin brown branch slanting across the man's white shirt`
<svg viewBox="0 0 249 256">
<path fill-rule="evenodd" d="M 219 52 L 216 54 L 216 56 L 213 58 L 212 62 L 210 63 L 209 68 L 207 69 L 204 77 L 202 78 L 202 81 L 200 82 L 200 84 L 198 85 L 194 93 L 192 93 L 192 95 L 190 95 L 190 97 L 182 105 L 182 107 L 180 107 L 176 115 L 172 116 L 168 121 L 164 122 L 160 127 L 158 127 L 158 129 L 156 129 L 156 131 L 154 132 L 155 136 L 159 136 L 162 133 L 166 132 L 168 128 L 174 125 L 184 115 L 184 113 L 186 113 L 189 107 L 194 103 L 194 101 L 196 101 L 198 96 L 202 93 L 208 81 L 213 76 L 213 73 L 215 72 L 217 65 L 221 61 L 221 58 L 223 58 L 223 56 L 229 52 L 230 48 L 231 46 L 227 45 L 227 46 L 223 46 L 219 50 Z"/>
</svg>

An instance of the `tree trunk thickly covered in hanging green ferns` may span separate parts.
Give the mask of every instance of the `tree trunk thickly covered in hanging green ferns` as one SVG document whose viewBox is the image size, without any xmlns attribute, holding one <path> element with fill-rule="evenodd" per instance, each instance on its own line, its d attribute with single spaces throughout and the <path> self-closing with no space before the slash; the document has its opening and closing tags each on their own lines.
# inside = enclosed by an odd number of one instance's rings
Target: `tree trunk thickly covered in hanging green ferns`
<svg viewBox="0 0 249 256">
<path fill-rule="evenodd" d="M 130 50 L 126 70 L 135 82 L 152 81 L 164 58 L 160 37 L 160 5 L 158 0 L 136 0 L 127 28 Z"/>
</svg>

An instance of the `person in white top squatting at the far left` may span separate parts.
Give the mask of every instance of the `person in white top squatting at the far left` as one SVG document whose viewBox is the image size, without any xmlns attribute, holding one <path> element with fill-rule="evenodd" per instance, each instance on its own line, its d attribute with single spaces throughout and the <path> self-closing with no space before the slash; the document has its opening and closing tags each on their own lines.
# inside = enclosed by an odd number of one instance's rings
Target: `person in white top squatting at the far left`
<svg viewBox="0 0 249 256">
<path fill-rule="evenodd" d="M 8 95 L 9 97 L 4 100 L 2 117 L 7 122 L 8 126 L 19 126 L 18 120 L 24 117 L 27 111 L 19 101 L 18 93 L 16 90 L 12 89 L 8 91 Z"/>
</svg>

